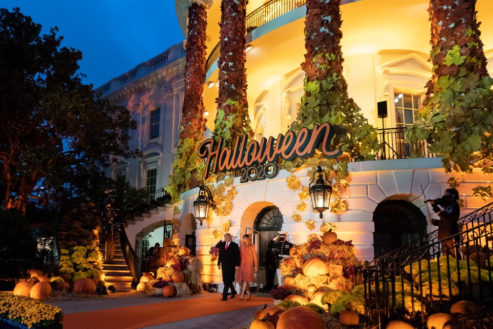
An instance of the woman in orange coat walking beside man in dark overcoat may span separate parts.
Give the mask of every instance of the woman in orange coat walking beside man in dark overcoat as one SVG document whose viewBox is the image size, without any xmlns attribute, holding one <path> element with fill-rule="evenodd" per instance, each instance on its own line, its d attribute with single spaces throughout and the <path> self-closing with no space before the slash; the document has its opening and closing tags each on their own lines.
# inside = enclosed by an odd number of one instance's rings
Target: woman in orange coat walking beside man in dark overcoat
<svg viewBox="0 0 493 329">
<path fill-rule="evenodd" d="M 255 251 L 255 246 L 251 243 L 250 234 L 245 234 L 243 236 L 243 243 L 240 247 L 240 259 L 240 269 L 237 272 L 236 278 L 236 281 L 240 282 L 240 285 L 243 282 L 243 290 L 240 299 L 243 300 L 246 291 L 246 293 L 248 293 L 246 300 L 250 300 L 251 294 L 249 282 L 255 281 L 253 273 L 257 271 L 258 266 L 257 252 Z"/>
</svg>

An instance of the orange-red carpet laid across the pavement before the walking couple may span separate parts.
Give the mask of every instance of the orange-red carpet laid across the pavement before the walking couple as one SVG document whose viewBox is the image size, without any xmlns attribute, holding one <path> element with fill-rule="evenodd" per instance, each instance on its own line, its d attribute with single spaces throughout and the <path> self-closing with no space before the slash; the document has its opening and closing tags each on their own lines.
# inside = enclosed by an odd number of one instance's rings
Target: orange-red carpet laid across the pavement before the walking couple
<svg viewBox="0 0 493 329">
<path fill-rule="evenodd" d="M 64 315 L 64 329 L 138 329 L 159 324 L 198 318 L 241 308 L 272 303 L 272 298 L 252 296 L 240 300 L 240 296 L 227 301 L 221 294 L 213 293 L 195 298 L 166 301 L 155 304 L 110 308 L 100 311 L 79 312 Z"/>
</svg>

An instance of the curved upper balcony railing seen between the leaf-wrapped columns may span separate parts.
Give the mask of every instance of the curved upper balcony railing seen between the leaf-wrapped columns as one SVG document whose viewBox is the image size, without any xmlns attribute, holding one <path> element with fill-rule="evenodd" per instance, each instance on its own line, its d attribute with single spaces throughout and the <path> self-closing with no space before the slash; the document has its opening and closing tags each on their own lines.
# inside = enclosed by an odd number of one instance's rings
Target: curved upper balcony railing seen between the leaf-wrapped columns
<svg viewBox="0 0 493 329">
<path fill-rule="evenodd" d="M 290 12 L 293 9 L 305 5 L 306 0 L 271 0 L 261 7 L 249 13 L 245 18 L 246 33 L 249 33 L 259 26 L 272 21 L 279 16 Z M 206 61 L 206 72 L 211 69 L 212 64 L 219 58 L 220 42 L 212 49 Z"/>
</svg>

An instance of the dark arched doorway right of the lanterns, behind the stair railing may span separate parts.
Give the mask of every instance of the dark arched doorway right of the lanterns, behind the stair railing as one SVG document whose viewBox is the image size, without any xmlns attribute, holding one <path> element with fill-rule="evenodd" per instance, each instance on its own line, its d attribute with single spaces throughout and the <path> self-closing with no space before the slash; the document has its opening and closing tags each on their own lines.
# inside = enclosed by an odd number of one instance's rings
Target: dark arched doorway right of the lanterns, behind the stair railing
<svg viewBox="0 0 493 329">
<path fill-rule="evenodd" d="M 387 200 L 373 212 L 375 258 L 402 247 L 426 234 L 426 217 L 411 202 Z"/>
</svg>

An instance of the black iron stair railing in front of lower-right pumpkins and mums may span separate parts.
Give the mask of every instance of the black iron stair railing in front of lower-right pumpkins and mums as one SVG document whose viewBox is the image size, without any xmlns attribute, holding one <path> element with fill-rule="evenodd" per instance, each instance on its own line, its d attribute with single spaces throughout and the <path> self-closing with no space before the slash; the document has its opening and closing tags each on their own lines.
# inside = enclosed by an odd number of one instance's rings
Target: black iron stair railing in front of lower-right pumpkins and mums
<svg viewBox="0 0 493 329">
<path fill-rule="evenodd" d="M 437 231 L 362 269 L 369 323 L 396 318 L 421 328 L 428 315 L 452 303 L 493 297 L 493 203 L 461 219 L 462 231 L 438 240 Z M 455 241 L 444 247 L 446 240 Z M 454 255 L 458 255 L 454 257 Z"/>
</svg>

